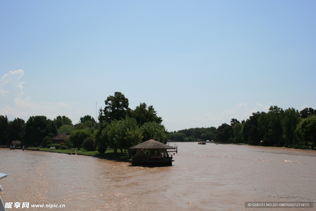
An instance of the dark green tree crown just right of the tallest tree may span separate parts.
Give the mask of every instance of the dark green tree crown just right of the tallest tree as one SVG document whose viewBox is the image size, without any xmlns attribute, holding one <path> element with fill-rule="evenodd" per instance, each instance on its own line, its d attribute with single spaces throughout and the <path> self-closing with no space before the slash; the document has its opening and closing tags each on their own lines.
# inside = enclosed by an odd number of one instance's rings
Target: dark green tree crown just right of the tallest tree
<svg viewBox="0 0 316 211">
<path fill-rule="evenodd" d="M 143 126 L 146 122 L 156 122 L 161 124 L 162 118 L 157 116 L 157 112 L 153 106 L 147 108 L 146 103 L 140 103 L 134 110 L 129 112 L 130 117 L 136 119 L 139 127 Z"/>
</svg>

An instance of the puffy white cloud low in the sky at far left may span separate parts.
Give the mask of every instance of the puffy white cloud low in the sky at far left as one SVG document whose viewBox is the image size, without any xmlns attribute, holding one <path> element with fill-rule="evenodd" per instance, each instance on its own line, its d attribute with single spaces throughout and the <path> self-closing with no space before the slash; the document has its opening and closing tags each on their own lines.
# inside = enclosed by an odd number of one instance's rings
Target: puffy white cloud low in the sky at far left
<svg viewBox="0 0 316 211">
<path fill-rule="evenodd" d="M 64 115 L 64 109 L 71 109 L 65 103 L 57 104 L 41 102 L 31 102 L 28 96 L 22 99 L 24 82 L 20 82 L 24 75 L 23 70 L 9 71 L 2 76 L 0 80 L 0 114 L 8 115 L 9 119 L 21 117 L 25 120 L 32 115 L 46 115 L 48 118 L 54 118 L 58 115 Z"/>
</svg>

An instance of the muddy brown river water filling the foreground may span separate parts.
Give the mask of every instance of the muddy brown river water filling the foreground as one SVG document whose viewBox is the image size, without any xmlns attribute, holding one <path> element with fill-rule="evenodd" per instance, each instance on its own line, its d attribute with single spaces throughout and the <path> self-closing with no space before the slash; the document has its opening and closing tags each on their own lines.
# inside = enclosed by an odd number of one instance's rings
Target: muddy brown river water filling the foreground
<svg viewBox="0 0 316 211">
<path fill-rule="evenodd" d="M 0 173 L 8 174 L 0 180 L 1 197 L 4 203 L 65 204 L 30 210 L 262 210 L 245 202 L 316 202 L 316 151 L 176 144 L 173 166 L 154 168 L 0 149 Z"/>
</svg>

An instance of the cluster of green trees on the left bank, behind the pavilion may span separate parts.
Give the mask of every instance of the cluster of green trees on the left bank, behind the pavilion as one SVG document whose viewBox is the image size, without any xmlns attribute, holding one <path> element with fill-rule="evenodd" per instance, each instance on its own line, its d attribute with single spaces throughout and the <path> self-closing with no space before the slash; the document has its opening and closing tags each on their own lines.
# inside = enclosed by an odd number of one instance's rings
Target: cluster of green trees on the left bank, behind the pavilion
<svg viewBox="0 0 316 211">
<path fill-rule="evenodd" d="M 90 115 L 85 115 L 73 125 L 66 116 L 57 116 L 53 120 L 46 116 L 30 116 L 25 122 L 20 118 L 9 121 L 7 116 L 0 115 L 0 145 L 19 140 L 25 146 L 46 147 L 52 143 L 50 138 L 70 133 L 62 143 L 68 148 L 84 146 L 104 153 L 107 147 L 111 147 L 115 154 L 117 149 L 123 154 L 123 150 L 126 153 L 129 147 L 149 139 L 161 143 L 167 141 L 162 118 L 157 116 L 153 106 L 140 103 L 135 109 L 130 109 L 128 99 L 121 92 L 107 97 L 104 109 L 99 110 L 98 120 L 96 122 Z"/>
</svg>

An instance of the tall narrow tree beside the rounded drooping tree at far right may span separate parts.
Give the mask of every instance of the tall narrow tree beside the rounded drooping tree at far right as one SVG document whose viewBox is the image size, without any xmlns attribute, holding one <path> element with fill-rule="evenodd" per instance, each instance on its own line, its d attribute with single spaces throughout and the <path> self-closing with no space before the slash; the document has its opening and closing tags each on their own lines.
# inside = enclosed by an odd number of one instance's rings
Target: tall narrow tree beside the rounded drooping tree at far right
<svg viewBox="0 0 316 211">
<path fill-rule="evenodd" d="M 293 107 L 284 110 L 284 119 L 282 121 L 283 138 L 288 145 L 295 145 L 295 129 L 297 124 L 301 121 L 300 113 Z"/>
</svg>

